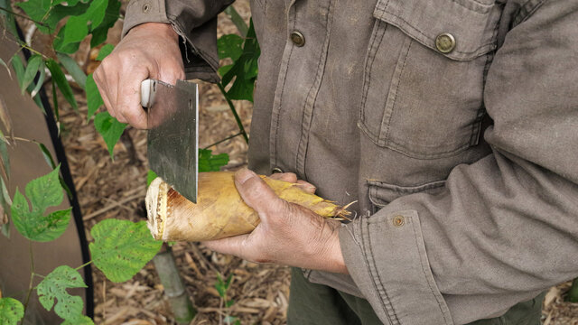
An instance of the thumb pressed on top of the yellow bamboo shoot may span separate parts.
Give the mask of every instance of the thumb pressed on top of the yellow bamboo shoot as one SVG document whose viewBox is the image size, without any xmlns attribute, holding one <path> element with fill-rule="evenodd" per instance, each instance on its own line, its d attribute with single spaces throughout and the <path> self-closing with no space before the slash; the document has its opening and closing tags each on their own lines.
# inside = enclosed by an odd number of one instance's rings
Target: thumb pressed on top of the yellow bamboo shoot
<svg viewBox="0 0 578 325">
<path fill-rule="evenodd" d="M 248 169 L 236 172 L 235 186 L 247 206 L 255 209 L 262 221 L 283 209 L 283 200 L 255 172 Z"/>
</svg>

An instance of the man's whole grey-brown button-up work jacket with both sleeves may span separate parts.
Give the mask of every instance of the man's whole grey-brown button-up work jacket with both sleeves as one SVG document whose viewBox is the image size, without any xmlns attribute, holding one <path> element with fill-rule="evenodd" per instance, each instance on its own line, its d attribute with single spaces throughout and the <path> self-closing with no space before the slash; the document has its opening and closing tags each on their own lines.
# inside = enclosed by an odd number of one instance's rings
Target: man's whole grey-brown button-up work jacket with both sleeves
<svg viewBox="0 0 578 325">
<path fill-rule="evenodd" d="M 230 1 L 133 0 L 216 79 Z M 350 276 L 386 324 L 498 316 L 578 275 L 578 1 L 254 0 L 250 168 L 342 204 Z"/>
</svg>

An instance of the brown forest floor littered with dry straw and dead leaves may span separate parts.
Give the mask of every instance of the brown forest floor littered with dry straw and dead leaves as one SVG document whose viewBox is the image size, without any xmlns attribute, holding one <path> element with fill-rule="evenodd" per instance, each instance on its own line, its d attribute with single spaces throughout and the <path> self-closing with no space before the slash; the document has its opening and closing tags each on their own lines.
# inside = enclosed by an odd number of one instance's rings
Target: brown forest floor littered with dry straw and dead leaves
<svg viewBox="0 0 578 325">
<path fill-rule="evenodd" d="M 247 21 L 250 15 L 247 0 L 235 7 Z M 117 23 L 107 42 L 116 44 L 121 30 Z M 224 14 L 219 16 L 219 35 L 237 32 Z M 35 42 L 42 42 L 36 40 Z M 42 45 L 42 44 L 41 44 Z M 76 59 L 86 66 L 88 46 L 81 48 Z M 50 86 L 47 89 L 51 93 Z M 79 202 L 87 229 L 105 218 L 125 218 L 133 221 L 145 218 L 146 191 L 146 133 L 128 128 L 114 150 L 114 160 L 107 146 L 86 123 L 87 107 L 83 92 L 76 88 L 79 112 L 73 111 L 61 98 L 62 139 L 79 194 Z M 249 130 L 252 105 L 237 101 L 235 105 L 243 125 Z M 214 144 L 238 133 L 238 125 L 229 111 L 219 88 L 200 84 L 200 147 Z M 230 161 L 225 170 L 237 170 L 247 165 L 247 144 L 237 136 L 222 144 L 211 146 L 214 153 L 228 153 Z M 87 235 L 90 238 L 89 231 Z M 210 252 L 198 243 L 176 243 L 172 253 L 198 313 L 191 324 L 222 324 L 227 316 L 234 316 L 241 324 L 284 324 L 289 297 L 289 268 L 276 265 L 257 265 Z M 112 283 L 94 270 L 95 323 L 98 325 L 175 324 L 170 305 L 163 295 L 163 285 L 149 263 L 126 283 Z M 228 299 L 229 308 L 215 288 L 218 274 L 223 278 L 232 274 Z M 548 292 L 543 310 L 546 325 L 578 325 L 578 303 L 564 302 L 564 292 L 570 283 L 563 283 Z"/>
</svg>

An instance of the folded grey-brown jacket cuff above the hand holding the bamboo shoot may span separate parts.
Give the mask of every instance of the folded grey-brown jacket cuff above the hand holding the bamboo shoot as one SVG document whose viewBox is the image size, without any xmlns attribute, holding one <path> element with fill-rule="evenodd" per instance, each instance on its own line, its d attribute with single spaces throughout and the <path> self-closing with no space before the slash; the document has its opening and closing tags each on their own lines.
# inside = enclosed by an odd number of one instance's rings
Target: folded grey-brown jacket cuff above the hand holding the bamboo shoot
<svg viewBox="0 0 578 325">
<path fill-rule="evenodd" d="M 386 324 L 453 324 L 433 280 L 417 212 L 387 208 L 340 228 L 353 281 Z"/>
</svg>

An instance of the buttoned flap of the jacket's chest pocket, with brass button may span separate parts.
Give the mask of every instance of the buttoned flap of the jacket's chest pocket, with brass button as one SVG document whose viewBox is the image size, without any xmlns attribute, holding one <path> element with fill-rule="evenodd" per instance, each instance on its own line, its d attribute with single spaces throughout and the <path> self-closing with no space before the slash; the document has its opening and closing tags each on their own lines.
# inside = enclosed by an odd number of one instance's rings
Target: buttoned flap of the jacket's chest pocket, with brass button
<svg viewBox="0 0 578 325">
<path fill-rule="evenodd" d="M 375 18 L 453 60 L 471 60 L 496 48 L 501 5 L 493 0 L 378 0 Z M 439 35 L 453 36 L 452 51 L 436 46 Z"/>
</svg>

